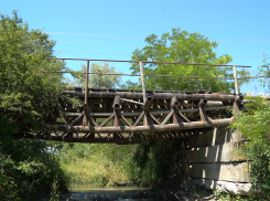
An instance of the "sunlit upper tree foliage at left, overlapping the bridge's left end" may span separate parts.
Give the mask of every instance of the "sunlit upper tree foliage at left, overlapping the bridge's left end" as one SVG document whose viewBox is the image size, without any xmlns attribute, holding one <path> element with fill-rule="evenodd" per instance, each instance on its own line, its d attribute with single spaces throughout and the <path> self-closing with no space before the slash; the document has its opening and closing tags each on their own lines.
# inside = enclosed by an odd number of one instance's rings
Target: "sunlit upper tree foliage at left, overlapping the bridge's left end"
<svg viewBox="0 0 270 201">
<path fill-rule="evenodd" d="M 64 63 L 47 60 L 55 42 L 46 33 L 29 30 L 17 12 L 0 18 L 0 120 L 11 133 L 39 131 L 66 87 L 63 75 L 45 72 L 63 71 Z"/>
</svg>

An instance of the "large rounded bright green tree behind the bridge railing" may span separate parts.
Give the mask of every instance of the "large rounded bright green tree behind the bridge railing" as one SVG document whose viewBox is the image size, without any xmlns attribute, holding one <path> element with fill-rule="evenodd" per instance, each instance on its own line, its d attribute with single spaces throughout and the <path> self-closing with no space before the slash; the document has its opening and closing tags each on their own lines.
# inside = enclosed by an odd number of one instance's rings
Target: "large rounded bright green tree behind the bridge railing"
<svg viewBox="0 0 270 201">
<path fill-rule="evenodd" d="M 161 38 L 151 34 L 145 39 L 148 45 L 137 49 L 131 57 L 132 61 L 154 62 L 181 62 L 181 63 L 204 63 L 204 64 L 227 64 L 233 61 L 230 55 L 216 56 L 213 49 L 217 47 L 216 42 L 199 33 L 188 33 L 180 28 L 172 29 L 171 33 L 163 33 Z M 133 74 L 140 72 L 137 63 L 130 67 Z M 218 66 L 193 66 L 172 64 L 144 64 L 144 74 L 154 75 L 179 75 L 179 76 L 206 76 L 206 77 L 233 77 L 231 67 Z M 246 71 L 238 72 L 247 75 Z M 242 82 L 239 83 L 239 85 Z M 209 89 L 213 92 L 229 92 L 234 88 L 233 82 L 226 80 L 203 80 L 203 78 L 168 78 L 147 77 L 145 85 L 149 89 Z"/>
</svg>

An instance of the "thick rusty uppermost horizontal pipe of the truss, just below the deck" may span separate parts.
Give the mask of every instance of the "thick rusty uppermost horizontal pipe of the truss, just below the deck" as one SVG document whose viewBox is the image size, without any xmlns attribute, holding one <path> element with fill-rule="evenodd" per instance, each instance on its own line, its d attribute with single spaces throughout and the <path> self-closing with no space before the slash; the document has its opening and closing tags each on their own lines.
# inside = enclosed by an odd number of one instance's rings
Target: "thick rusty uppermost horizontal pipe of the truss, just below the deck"
<svg viewBox="0 0 270 201">
<path fill-rule="evenodd" d="M 84 94 L 74 92 L 74 91 L 63 91 L 63 94 L 71 95 L 71 96 L 77 96 L 77 97 L 84 97 Z M 117 95 L 120 95 L 121 98 L 143 98 L 142 93 L 111 93 L 111 92 L 90 92 L 89 93 L 91 97 L 104 97 L 104 98 L 115 98 Z M 171 99 L 173 96 L 176 96 L 177 99 L 194 99 L 194 100 L 201 100 L 202 98 L 207 100 L 234 100 L 236 98 L 235 95 L 218 95 L 218 94 L 172 94 L 172 93 L 155 93 L 152 95 L 154 99 Z"/>
</svg>

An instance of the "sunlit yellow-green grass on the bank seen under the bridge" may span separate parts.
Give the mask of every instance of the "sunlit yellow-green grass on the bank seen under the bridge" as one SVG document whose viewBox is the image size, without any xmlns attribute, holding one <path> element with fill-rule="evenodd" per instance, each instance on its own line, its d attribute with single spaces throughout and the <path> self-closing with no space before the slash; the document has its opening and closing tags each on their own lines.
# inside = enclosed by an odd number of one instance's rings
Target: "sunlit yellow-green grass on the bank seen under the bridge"
<svg viewBox="0 0 270 201">
<path fill-rule="evenodd" d="M 118 145 L 64 145 L 58 152 L 61 168 L 71 178 L 71 183 L 93 187 L 114 187 L 128 182 L 129 158 L 123 149 L 131 146 Z M 122 150 L 122 151 L 121 151 Z"/>
</svg>

